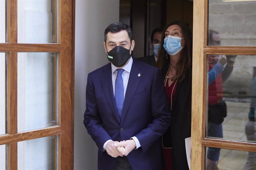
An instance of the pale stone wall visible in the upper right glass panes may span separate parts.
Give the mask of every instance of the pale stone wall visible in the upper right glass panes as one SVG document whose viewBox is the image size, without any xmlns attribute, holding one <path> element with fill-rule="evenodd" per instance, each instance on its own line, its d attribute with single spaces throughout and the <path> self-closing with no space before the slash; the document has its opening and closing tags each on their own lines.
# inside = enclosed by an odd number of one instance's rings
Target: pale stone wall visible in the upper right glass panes
<svg viewBox="0 0 256 170">
<path fill-rule="evenodd" d="M 256 2 L 209 0 L 208 29 L 218 31 L 221 45 L 256 46 Z M 224 92 L 248 94 L 256 55 L 238 55 Z"/>
</svg>

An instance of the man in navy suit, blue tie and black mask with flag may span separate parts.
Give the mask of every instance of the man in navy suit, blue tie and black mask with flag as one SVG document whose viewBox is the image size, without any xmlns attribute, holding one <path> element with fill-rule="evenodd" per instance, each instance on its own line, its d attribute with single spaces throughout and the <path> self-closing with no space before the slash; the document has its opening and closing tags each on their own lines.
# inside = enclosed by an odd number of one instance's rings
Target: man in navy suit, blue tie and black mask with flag
<svg viewBox="0 0 256 170">
<path fill-rule="evenodd" d="M 160 70 L 131 57 L 124 23 L 104 32 L 110 63 L 88 74 L 84 125 L 98 146 L 99 170 L 161 170 L 170 110 Z"/>
</svg>

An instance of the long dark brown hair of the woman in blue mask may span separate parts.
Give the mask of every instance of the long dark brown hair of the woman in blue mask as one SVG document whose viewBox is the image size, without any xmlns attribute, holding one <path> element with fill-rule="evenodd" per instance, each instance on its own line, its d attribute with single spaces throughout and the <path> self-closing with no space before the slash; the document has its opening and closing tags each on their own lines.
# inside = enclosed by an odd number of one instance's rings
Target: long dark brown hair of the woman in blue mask
<svg viewBox="0 0 256 170">
<path fill-rule="evenodd" d="M 185 38 L 185 45 L 182 48 L 180 59 L 176 64 L 176 75 L 175 78 L 178 82 L 182 81 L 185 78 L 186 70 L 189 69 L 192 65 L 192 33 L 188 25 L 182 21 L 173 21 L 166 25 L 164 31 L 162 32 L 162 39 L 160 43 L 160 48 L 157 55 L 156 66 L 162 70 L 163 76 L 166 76 L 166 73 L 170 64 L 170 55 L 164 49 L 164 38 L 165 31 L 170 25 L 179 25 L 182 31 L 182 34 Z"/>
</svg>

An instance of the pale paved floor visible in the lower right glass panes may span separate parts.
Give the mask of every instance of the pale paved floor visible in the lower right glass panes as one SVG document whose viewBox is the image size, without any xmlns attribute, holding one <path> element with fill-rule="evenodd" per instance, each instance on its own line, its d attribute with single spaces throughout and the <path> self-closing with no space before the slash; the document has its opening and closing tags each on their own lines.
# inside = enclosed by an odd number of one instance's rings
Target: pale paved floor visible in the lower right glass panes
<svg viewBox="0 0 256 170">
<path fill-rule="evenodd" d="M 226 104 L 228 113 L 222 123 L 224 138 L 246 141 L 245 126 L 250 104 L 239 102 L 226 102 Z M 242 170 L 247 158 L 248 152 L 221 149 L 218 168 L 219 170 Z"/>
</svg>

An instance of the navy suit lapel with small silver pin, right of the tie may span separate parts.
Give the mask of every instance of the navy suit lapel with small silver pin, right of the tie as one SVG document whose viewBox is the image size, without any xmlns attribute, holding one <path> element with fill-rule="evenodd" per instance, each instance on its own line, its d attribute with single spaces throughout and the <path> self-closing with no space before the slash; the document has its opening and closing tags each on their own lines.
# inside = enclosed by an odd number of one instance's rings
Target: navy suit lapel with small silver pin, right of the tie
<svg viewBox="0 0 256 170">
<path fill-rule="evenodd" d="M 126 89 L 126 95 L 124 99 L 124 107 L 123 107 L 123 113 L 121 118 L 121 123 L 124 120 L 124 117 L 128 111 L 128 108 L 130 107 L 130 104 L 132 102 L 132 98 L 137 90 L 138 84 L 142 78 L 143 72 L 140 70 L 141 65 L 136 60 L 133 60 L 132 63 L 132 69 L 130 72 L 127 89 Z"/>
</svg>

